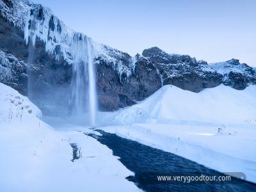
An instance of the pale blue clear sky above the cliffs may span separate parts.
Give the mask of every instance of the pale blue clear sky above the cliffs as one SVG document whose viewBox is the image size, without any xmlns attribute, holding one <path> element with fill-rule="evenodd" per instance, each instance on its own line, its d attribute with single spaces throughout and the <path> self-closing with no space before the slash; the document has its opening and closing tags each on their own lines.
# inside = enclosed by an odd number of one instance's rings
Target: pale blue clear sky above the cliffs
<svg viewBox="0 0 256 192">
<path fill-rule="evenodd" d="M 255 0 L 32 0 L 75 31 L 132 56 L 149 47 L 256 67 Z"/>
</svg>

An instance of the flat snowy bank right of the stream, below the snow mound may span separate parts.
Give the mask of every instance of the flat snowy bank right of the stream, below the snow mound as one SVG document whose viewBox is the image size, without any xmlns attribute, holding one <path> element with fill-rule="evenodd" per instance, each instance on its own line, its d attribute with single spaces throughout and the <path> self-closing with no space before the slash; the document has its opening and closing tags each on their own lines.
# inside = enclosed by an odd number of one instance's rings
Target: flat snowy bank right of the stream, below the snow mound
<svg viewBox="0 0 256 192">
<path fill-rule="evenodd" d="M 253 125 L 229 127 L 177 124 L 133 124 L 100 127 L 144 145 L 171 152 L 219 172 L 243 172 L 256 182 L 256 154 Z"/>
</svg>

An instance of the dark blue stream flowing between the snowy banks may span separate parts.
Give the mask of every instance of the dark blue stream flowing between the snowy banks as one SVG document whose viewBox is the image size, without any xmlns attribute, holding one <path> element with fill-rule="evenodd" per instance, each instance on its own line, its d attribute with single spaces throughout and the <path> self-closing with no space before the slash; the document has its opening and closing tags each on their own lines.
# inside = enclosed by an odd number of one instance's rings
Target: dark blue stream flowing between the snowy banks
<svg viewBox="0 0 256 192">
<path fill-rule="evenodd" d="M 144 191 L 256 191 L 256 185 L 250 182 L 244 182 L 232 177 L 232 182 L 223 184 L 198 184 L 197 183 L 159 183 L 157 180 L 150 180 L 148 175 L 166 175 L 169 173 L 202 174 L 205 175 L 223 175 L 209 168 L 205 168 L 188 159 L 176 156 L 169 152 L 164 152 L 156 148 L 142 145 L 136 141 L 127 140 L 99 131 L 102 136 L 90 135 L 96 138 L 100 143 L 108 146 L 113 150 L 115 156 L 120 157 L 120 161 L 129 170 L 135 173 L 134 177 L 128 177 L 128 180 L 134 182 L 138 188 Z M 147 177 L 144 178 L 146 175 Z M 170 174 L 169 174 L 170 175 Z"/>
</svg>

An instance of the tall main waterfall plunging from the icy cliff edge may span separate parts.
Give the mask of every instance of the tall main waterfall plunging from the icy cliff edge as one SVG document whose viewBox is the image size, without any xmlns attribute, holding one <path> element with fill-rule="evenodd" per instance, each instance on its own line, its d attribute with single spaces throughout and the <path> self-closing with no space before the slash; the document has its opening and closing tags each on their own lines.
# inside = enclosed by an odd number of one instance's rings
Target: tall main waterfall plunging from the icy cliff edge
<svg viewBox="0 0 256 192">
<path fill-rule="evenodd" d="M 96 76 L 92 40 L 76 33 L 72 42 L 72 113 L 95 125 L 97 113 Z M 87 112 L 87 113 L 86 113 Z"/>
</svg>

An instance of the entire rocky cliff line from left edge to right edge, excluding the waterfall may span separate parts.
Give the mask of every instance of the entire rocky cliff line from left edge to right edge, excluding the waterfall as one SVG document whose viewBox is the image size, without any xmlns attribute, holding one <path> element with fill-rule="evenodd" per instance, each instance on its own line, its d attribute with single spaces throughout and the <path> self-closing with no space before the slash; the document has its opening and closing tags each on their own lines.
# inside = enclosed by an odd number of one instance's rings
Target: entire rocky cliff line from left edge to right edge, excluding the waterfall
<svg viewBox="0 0 256 192">
<path fill-rule="evenodd" d="M 86 35 L 68 29 L 51 10 L 28 0 L 0 0 L 0 81 L 19 90 L 48 115 L 70 112 L 72 65 L 84 58 Z M 92 42 L 99 108 L 130 106 L 163 84 L 200 92 L 223 83 L 255 84 L 255 68 L 230 60 L 208 65 L 157 47 L 132 57 Z"/>
</svg>

